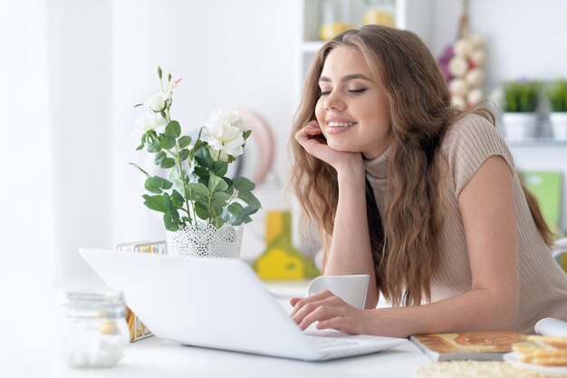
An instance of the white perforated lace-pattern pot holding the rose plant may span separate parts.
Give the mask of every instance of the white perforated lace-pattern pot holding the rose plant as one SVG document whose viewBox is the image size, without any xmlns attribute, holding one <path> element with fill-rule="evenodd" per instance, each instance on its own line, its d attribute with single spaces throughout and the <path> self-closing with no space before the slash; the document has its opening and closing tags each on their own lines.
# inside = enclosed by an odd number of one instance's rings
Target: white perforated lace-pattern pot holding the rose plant
<svg viewBox="0 0 567 378">
<path fill-rule="evenodd" d="M 178 231 L 166 231 L 168 255 L 177 257 L 240 257 L 243 226 L 199 223 Z"/>
</svg>

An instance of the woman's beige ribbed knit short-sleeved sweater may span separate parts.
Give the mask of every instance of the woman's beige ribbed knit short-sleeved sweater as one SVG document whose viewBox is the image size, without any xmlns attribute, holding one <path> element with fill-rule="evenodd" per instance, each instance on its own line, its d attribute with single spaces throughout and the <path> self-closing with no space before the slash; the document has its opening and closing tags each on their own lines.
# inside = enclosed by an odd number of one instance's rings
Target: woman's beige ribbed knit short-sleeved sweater
<svg viewBox="0 0 567 378">
<path fill-rule="evenodd" d="M 488 157 L 499 155 L 514 171 L 518 212 L 520 305 L 514 330 L 533 333 L 533 325 L 548 316 L 567 320 L 567 274 L 555 262 L 535 228 L 520 180 L 515 174 L 512 154 L 495 126 L 478 115 L 467 115 L 447 131 L 441 150 L 449 163 L 444 193 L 447 214 L 439 240 L 441 264 L 431 283 L 432 302 L 471 290 L 466 236 L 457 200 L 481 164 Z M 388 160 L 389 150 L 386 150 L 378 158 L 365 161 L 366 177 L 373 188 L 380 214 L 384 214 L 387 201 Z"/>
</svg>

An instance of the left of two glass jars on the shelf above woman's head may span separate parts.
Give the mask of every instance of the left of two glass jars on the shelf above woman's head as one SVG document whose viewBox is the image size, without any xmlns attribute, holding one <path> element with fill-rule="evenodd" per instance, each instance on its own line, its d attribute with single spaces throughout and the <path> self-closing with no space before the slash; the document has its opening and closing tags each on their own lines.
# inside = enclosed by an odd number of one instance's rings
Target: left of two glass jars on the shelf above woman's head
<svg viewBox="0 0 567 378">
<path fill-rule="evenodd" d="M 319 37 L 331 40 L 335 35 L 352 29 L 351 4 L 347 0 L 322 0 Z"/>
</svg>

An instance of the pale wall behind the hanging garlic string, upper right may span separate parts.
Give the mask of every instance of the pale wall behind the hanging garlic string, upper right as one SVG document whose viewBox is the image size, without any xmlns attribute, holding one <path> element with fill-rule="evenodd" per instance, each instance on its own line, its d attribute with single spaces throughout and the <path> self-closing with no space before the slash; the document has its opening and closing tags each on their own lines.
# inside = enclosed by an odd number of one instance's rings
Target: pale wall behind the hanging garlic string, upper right
<svg viewBox="0 0 567 378">
<path fill-rule="evenodd" d="M 519 77 L 567 77 L 567 2 L 557 0 L 469 1 L 471 34 L 486 39 L 489 84 Z M 435 0 L 432 51 L 438 56 L 457 33 L 462 1 Z"/>
</svg>

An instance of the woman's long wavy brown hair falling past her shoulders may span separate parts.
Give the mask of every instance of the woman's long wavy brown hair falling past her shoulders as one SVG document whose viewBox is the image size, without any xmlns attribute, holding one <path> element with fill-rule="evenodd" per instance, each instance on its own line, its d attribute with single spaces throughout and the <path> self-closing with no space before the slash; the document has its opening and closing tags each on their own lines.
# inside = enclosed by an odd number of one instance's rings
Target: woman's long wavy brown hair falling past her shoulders
<svg viewBox="0 0 567 378">
<path fill-rule="evenodd" d="M 441 196 L 447 163 L 440 152 L 448 128 L 469 112 L 494 124 L 490 111 L 458 111 L 428 48 L 416 34 L 369 25 L 337 35 L 315 55 L 293 122 L 290 184 L 304 214 L 320 230 L 323 264 L 329 251 L 339 198 L 336 171 L 308 154 L 294 139 L 315 120 L 319 77 L 329 53 L 349 46 L 361 53 L 389 100 L 392 141 L 385 214 L 380 217 L 367 180 L 366 202 L 376 284 L 394 305 L 419 305 L 431 299 L 430 282 L 439 265 L 438 237 L 443 225 Z M 443 168 L 445 167 L 445 168 Z M 552 234 L 524 189 L 536 226 L 551 244 Z"/>
</svg>

